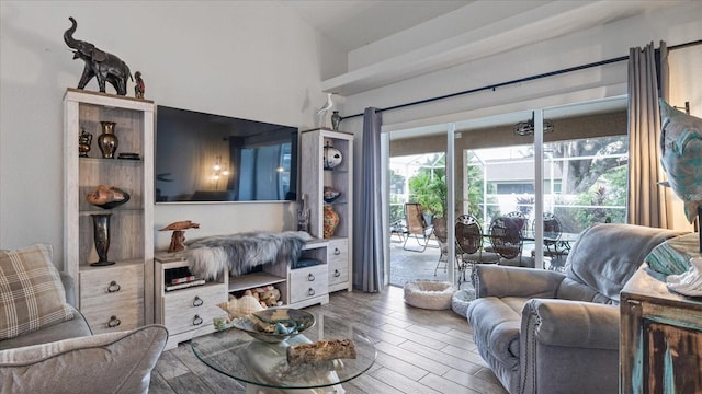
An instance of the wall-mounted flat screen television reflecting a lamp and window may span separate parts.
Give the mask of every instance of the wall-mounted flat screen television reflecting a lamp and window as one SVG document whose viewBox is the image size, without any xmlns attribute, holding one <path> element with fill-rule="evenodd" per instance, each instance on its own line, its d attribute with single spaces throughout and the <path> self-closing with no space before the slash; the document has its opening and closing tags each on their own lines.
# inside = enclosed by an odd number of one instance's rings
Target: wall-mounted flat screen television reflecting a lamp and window
<svg viewBox="0 0 702 394">
<path fill-rule="evenodd" d="M 295 200 L 297 135 L 292 126 L 159 105 L 156 202 Z"/>
</svg>

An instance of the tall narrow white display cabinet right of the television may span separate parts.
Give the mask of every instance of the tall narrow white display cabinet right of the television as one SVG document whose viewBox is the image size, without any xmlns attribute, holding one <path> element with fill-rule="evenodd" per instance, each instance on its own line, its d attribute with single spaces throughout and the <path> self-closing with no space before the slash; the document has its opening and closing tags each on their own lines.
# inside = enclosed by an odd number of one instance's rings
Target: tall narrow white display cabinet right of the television
<svg viewBox="0 0 702 394">
<path fill-rule="evenodd" d="M 325 147 L 341 153 L 341 163 L 325 170 Z M 309 232 L 324 237 L 325 206 L 331 206 L 339 216 L 339 224 L 327 241 L 327 275 L 329 291 L 348 290 L 352 285 L 353 230 L 353 135 L 314 129 L 301 134 L 301 193 L 305 196 L 309 213 Z M 325 186 L 341 192 L 338 199 L 324 199 Z"/>
</svg>

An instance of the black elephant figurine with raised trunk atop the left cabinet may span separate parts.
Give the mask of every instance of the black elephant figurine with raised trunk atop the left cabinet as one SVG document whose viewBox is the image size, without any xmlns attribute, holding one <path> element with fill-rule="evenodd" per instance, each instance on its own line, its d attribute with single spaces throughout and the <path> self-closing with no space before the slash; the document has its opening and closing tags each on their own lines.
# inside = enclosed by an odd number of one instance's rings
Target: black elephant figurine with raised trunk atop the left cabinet
<svg viewBox="0 0 702 394">
<path fill-rule="evenodd" d="M 102 93 L 105 92 L 105 82 L 110 82 L 118 95 L 126 95 L 127 79 L 132 79 L 129 67 L 118 57 L 101 50 L 88 42 L 75 39 L 73 33 L 78 23 L 72 16 L 68 19 L 72 25 L 64 33 L 64 40 L 69 48 L 75 49 L 73 59 L 80 58 L 86 62 L 78 89 L 86 88 L 88 82 L 95 77 Z"/>
</svg>

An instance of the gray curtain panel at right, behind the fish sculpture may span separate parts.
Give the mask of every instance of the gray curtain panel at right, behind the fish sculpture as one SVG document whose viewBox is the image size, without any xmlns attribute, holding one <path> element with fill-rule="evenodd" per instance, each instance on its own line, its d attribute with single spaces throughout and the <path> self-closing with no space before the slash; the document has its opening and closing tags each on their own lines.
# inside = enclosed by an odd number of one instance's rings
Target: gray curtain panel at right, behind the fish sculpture
<svg viewBox="0 0 702 394">
<path fill-rule="evenodd" d="M 627 222 L 668 229 L 672 224 L 670 202 L 665 188 L 658 185 L 665 181 L 658 97 L 668 99 L 668 49 L 664 42 L 659 59 L 656 55 L 653 43 L 629 53 Z"/>
</svg>

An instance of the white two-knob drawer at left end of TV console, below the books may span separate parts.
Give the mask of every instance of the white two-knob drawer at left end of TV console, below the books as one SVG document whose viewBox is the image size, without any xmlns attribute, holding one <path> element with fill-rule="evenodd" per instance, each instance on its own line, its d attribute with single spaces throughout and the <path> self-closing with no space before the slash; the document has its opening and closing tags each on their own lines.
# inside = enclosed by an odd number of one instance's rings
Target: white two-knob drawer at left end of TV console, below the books
<svg viewBox="0 0 702 394">
<path fill-rule="evenodd" d="M 217 306 L 227 301 L 227 288 L 224 285 L 204 285 L 192 289 L 168 292 L 163 296 L 161 308 L 166 316 L 163 325 L 170 335 L 212 324 L 213 317 L 224 317 L 227 313 Z"/>
</svg>

